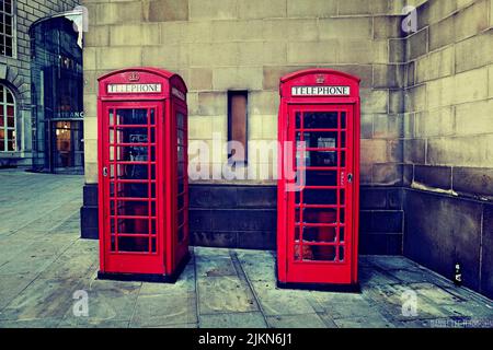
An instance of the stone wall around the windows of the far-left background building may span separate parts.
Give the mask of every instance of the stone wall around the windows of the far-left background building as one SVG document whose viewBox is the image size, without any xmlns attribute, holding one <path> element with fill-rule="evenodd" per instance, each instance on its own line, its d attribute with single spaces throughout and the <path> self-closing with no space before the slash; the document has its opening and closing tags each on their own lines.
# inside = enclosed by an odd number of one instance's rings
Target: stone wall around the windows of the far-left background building
<svg viewBox="0 0 493 350">
<path fill-rule="evenodd" d="M 19 152 L 2 152 L 0 165 L 32 165 L 32 119 L 31 119 L 31 39 L 30 27 L 39 20 L 60 12 L 73 10 L 78 0 L 19 0 L 15 3 L 16 19 L 16 55 L 0 56 L 0 66 L 7 67 L 4 79 L 15 95 L 18 107 L 18 149 Z"/>
</svg>

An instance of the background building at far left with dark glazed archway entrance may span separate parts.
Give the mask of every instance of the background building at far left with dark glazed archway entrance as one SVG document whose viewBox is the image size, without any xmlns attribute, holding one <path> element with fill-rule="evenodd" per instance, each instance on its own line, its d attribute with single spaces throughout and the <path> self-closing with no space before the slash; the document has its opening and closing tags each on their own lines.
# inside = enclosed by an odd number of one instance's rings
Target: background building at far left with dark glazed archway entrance
<svg viewBox="0 0 493 350">
<path fill-rule="evenodd" d="M 46 54 L 49 50 L 54 51 L 50 55 L 53 59 L 49 66 L 53 72 L 60 72 L 66 59 L 59 55 L 60 48 L 68 48 L 66 51 L 78 56 L 76 58 L 78 67 L 66 70 L 79 71 L 79 77 L 71 77 L 71 81 L 79 85 L 77 88 L 80 91 L 79 110 L 82 110 L 82 49 L 79 47 L 77 52 L 72 46 L 78 37 L 72 22 L 72 11 L 77 5 L 78 1 L 72 0 L 1 1 L 0 12 L 3 22 L 0 25 L 0 109 L 2 113 L 0 115 L 0 166 L 53 171 L 49 162 L 57 153 L 60 153 L 60 150 L 64 153 L 62 140 L 58 139 L 62 138 L 61 131 L 65 128 L 60 127 L 58 132 L 60 137 L 57 138 L 56 133 L 51 136 L 47 131 L 47 124 L 44 120 L 46 103 L 64 95 L 64 89 L 57 91 L 54 88 L 54 82 L 60 81 L 60 77 L 56 80 L 41 81 L 38 78 L 47 72 L 48 65 L 43 67 L 36 65 L 39 63 L 36 58 L 39 58 L 43 52 L 45 57 L 48 57 Z M 70 16 L 68 12 L 72 15 Z M 61 15 L 62 13 L 67 15 Z M 64 35 L 68 35 L 70 39 L 60 42 Z M 66 77 L 61 79 L 65 80 Z M 67 96 L 67 93 L 65 95 Z M 56 101 L 49 107 L 58 110 L 62 109 L 64 105 L 67 103 Z"/>
</svg>

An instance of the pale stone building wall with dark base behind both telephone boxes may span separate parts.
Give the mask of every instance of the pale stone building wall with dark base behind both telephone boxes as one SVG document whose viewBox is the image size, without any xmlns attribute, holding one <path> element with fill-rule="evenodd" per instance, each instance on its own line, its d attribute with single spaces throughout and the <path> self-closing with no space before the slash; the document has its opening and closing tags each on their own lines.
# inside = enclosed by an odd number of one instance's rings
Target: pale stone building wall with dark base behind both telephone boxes
<svg viewBox="0 0 493 350">
<path fill-rule="evenodd" d="M 279 78 L 331 68 L 362 79 L 360 253 L 403 254 L 447 277 L 459 262 L 466 285 L 493 295 L 492 0 L 83 5 L 83 236 L 98 236 L 98 77 L 135 66 L 180 73 L 190 142 L 210 150 L 199 164 L 208 177 L 191 180 L 193 243 L 275 248 L 276 152 L 264 145 L 277 139 Z M 214 145 L 231 138 L 262 176 L 214 176 L 231 155 Z"/>
</svg>

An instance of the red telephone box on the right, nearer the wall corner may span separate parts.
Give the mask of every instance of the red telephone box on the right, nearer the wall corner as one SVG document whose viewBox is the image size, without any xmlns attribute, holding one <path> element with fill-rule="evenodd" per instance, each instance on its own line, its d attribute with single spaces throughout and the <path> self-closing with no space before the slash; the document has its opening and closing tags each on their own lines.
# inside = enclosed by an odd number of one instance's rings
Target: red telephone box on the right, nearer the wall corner
<svg viewBox="0 0 493 350">
<path fill-rule="evenodd" d="M 282 78 L 278 139 L 278 285 L 357 290 L 359 79 Z"/>
</svg>

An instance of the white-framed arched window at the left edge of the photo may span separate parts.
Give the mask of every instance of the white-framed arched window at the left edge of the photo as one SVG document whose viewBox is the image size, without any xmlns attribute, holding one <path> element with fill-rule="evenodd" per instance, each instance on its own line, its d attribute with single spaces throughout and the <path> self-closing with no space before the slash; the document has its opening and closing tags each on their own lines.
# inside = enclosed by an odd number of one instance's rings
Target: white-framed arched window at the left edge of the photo
<svg viewBox="0 0 493 350">
<path fill-rule="evenodd" d="M 0 84 L 0 152 L 16 151 L 15 100 L 9 88 Z"/>
</svg>

